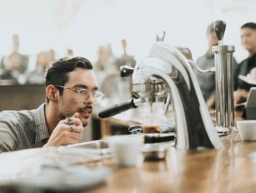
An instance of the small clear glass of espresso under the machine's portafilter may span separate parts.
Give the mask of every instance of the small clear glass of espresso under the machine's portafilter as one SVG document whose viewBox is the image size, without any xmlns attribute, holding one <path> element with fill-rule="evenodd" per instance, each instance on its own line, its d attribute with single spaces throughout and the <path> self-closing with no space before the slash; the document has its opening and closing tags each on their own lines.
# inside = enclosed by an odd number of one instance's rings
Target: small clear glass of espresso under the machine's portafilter
<svg viewBox="0 0 256 193">
<path fill-rule="evenodd" d="M 160 134 L 160 115 L 144 114 L 142 115 L 143 133 Z"/>
</svg>

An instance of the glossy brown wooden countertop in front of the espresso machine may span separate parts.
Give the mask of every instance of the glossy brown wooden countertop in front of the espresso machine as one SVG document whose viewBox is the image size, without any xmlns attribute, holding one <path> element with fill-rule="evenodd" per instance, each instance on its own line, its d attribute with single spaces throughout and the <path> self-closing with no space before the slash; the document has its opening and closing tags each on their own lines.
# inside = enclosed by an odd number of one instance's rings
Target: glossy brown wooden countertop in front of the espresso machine
<svg viewBox="0 0 256 193">
<path fill-rule="evenodd" d="M 243 142 L 238 134 L 222 136 L 224 148 L 186 152 L 169 148 L 164 161 L 141 161 L 136 168 L 106 165 L 113 175 L 90 193 L 256 192 L 256 142 Z"/>
</svg>

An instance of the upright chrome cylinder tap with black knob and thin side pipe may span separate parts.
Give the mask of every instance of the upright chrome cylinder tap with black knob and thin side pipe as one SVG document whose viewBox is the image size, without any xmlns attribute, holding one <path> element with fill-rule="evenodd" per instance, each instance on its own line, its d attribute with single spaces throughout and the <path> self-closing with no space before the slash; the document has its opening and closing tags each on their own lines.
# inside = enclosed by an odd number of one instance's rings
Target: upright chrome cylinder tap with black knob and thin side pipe
<svg viewBox="0 0 256 193">
<path fill-rule="evenodd" d="M 200 69 L 192 60 L 188 60 L 201 73 L 215 73 L 215 110 L 216 130 L 230 133 L 234 129 L 233 105 L 233 52 L 234 46 L 223 45 L 225 22 L 214 23 L 218 45 L 212 47 L 215 54 L 215 67 L 209 70 Z"/>
</svg>

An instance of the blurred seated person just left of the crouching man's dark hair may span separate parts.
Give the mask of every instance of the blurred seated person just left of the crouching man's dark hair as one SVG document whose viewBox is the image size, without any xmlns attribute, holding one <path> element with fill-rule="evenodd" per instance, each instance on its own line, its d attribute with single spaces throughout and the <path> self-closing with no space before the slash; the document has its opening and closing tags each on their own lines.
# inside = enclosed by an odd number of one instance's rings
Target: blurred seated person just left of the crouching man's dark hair
<svg viewBox="0 0 256 193">
<path fill-rule="evenodd" d="M 42 84 L 45 82 L 44 73 L 49 68 L 47 53 L 41 51 L 36 57 L 36 66 L 27 77 L 27 83 Z"/>
</svg>

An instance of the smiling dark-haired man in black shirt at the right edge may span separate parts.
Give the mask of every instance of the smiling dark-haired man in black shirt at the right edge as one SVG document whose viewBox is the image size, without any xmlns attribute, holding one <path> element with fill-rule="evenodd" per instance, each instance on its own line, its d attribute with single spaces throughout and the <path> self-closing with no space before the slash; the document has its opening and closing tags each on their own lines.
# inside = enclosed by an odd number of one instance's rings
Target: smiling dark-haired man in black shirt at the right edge
<svg viewBox="0 0 256 193">
<path fill-rule="evenodd" d="M 241 44 L 248 51 L 249 56 L 239 64 L 236 75 L 250 75 L 256 67 L 256 23 L 247 22 L 241 27 Z M 253 77 L 253 75 L 252 75 Z M 246 83 L 237 76 L 238 86 L 234 92 L 234 104 L 247 100 L 249 91 L 255 84 Z"/>
</svg>

